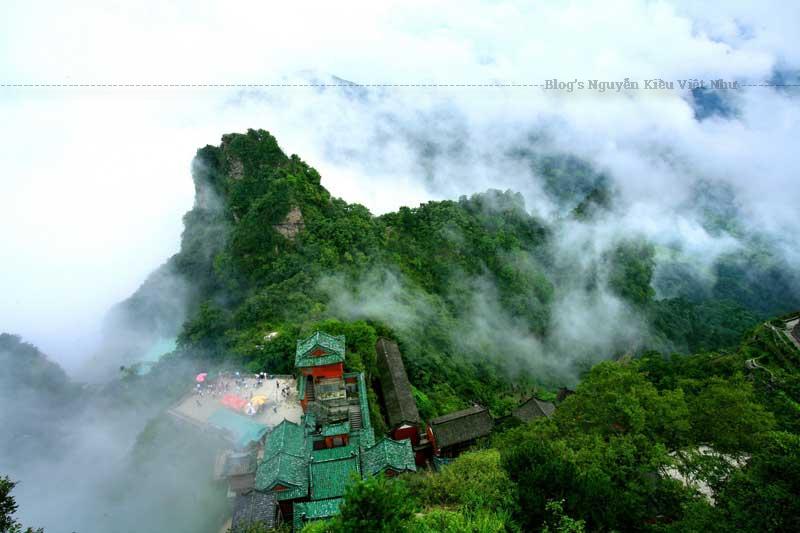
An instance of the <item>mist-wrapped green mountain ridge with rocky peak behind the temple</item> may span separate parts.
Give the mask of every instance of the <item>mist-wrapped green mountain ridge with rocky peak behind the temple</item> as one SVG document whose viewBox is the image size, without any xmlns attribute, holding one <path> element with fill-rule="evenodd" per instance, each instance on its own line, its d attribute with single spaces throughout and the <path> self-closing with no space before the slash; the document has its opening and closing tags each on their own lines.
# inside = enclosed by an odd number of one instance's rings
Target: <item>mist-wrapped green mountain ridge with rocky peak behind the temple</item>
<svg viewBox="0 0 800 533">
<path fill-rule="evenodd" d="M 614 216 L 613 186 L 574 158 L 523 156 L 565 206 L 561 219 L 529 213 L 511 191 L 373 216 L 332 197 L 316 170 L 285 155 L 269 133 L 225 135 L 220 146 L 197 153 L 196 201 L 184 217 L 181 251 L 160 269 L 169 275 L 148 280 L 122 309 L 152 329 L 166 307 L 165 321 L 177 329 L 181 314 L 172 300 L 162 305 L 170 292 L 161 288 L 180 279 L 188 302 L 184 349 L 275 372 L 289 370 L 289 351 L 283 341 L 265 343 L 266 333 L 291 339 L 319 321 L 343 320 L 349 325 L 340 327 L 352 329 L 355 320 L 363 335 L 400 340 L 411 381 L 434 396 L 432 405 L 478 401 L 498 414 L 518 387 L 573 383 L 595 361 L 648 348 L 732 347 L 769 316 L 750 301 L 753 287 L 735 276 L 718 276 L 705 292 L 677 286 L 693 271 L 679 261 L 657 266 L 660 252 L 635 235 L 600 252 L 564 253 L 559 239 L 570 228 Z M 786 276 L 770 254 L 761 252 L 747 279 L 769 285 L 757 278 Z M 723 257 L 715 268 L 747 264 L 743 256 Z M 656 284 L 677 296 L 656 298 Z M 781 295 L 759 305 L 771 314 L 800 307 L 796 290 Z M 616 306 L 627 320 L 603 324 L 580 314 L 582 302 L 591 311 Z"/>
</svg>

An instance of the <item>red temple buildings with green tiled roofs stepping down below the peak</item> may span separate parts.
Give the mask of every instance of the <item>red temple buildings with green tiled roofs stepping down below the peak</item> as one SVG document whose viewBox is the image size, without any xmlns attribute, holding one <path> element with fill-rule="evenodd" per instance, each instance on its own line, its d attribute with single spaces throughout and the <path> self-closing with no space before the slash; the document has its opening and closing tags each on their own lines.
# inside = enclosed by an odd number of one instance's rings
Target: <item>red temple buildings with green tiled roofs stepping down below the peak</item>
<svg viewBox="0 0 800 533">
<path fill-rule="evenodd" d="M 288 521 L 299 531 L 311 520 L 337 514 L 353 480 L 416 470 L 410 440 L 376 441 L 364 374 L 344 372 L 344 361 L 343 336 L 316 332 L 297 341 L 303 415 L 300 422 L 283 420 L 266 435 L 254 478 L 248 477 L 249 456 L 230 456 L 226 467 L 235 473 L 229 482 L 237 493 L 234 531 L 256 519 Z M 243 487 L 251 479 L 252 490 L 246 492 Z"/>
</svg>

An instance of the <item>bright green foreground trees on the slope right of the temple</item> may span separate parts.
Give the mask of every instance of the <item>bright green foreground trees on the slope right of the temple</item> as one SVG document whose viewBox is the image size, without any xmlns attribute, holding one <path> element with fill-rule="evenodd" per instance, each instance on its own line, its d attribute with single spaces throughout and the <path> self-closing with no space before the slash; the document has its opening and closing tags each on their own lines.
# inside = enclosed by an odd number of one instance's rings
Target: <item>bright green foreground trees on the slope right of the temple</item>
<svg viewBox="0 0 800 533">
<path fill-rule="evenodd" d="M 798 364 L 769 323 L 735 350 L 599 363 L 552 418 L 354 485 L 304 531 L 797 531 Z"/>
</svg>

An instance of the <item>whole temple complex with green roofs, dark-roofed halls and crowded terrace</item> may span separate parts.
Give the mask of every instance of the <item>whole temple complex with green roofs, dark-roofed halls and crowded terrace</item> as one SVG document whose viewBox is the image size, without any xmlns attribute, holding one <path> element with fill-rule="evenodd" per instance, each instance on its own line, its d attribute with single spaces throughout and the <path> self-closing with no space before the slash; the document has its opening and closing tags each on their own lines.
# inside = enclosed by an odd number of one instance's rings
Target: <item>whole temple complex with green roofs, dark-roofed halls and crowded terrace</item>
<svg viewBox="0 0 800 533">
<path fill-rule="evenodd" d="M 261 373 L 248 386 L 253 378 L 239 378 L 237 372 L 237 387 L 254 391 L 245 403 L 266 402 L 255 413 L 241 414 L 227 395 L 208 405 L 204 402 L 211 400 L 189 397 L 172 410 L 216 432 L 231 448 L 218 459 L 215 475 L 227 480 L 234 498 L 232 531 L 287 522 L 299 531 L 310 521 L 338 514 L 355 480 L 397 476 L 418 466 L 438 469 L 491 433 L 494 419 L 479 405 L 434 418 L 423 430 L 400 349 L 380 338 L 374 385 L 389 431 L 376 438 L 364 373 L 345 372 L 345 341 L 322 331 L 299 339 L 296 376 Z M 554 409 L 532 397 L 512 416 L 527 422 L 549 417 Z"/>
</svg>

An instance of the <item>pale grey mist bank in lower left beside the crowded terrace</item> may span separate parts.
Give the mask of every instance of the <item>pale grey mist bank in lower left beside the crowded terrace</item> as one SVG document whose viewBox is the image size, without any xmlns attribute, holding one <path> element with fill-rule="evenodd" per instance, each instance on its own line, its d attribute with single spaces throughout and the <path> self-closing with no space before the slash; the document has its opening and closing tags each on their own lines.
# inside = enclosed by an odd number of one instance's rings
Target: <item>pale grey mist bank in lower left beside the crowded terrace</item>
<svg viewBox="0 0 800 533">
<path fill-rule="evenodd" d="M 190 532 L 222 520 L 224 491 L 209 470 L 219 443 L 164 413 L 197 372 L 191 361 L 165 360 L 147 378 L 126 374 L 89 386 L 2 334 L 0 364 L 0 471 L 18 482 L 24 524 Z"/>
</svg>

